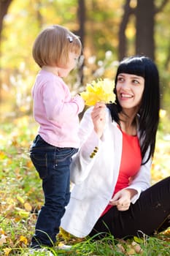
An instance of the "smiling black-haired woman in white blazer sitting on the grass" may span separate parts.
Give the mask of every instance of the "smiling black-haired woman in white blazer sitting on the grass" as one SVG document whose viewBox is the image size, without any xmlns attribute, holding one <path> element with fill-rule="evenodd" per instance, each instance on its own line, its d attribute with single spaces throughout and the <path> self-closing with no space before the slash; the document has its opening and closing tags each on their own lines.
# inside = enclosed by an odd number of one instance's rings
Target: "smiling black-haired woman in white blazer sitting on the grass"
<svg viewBox="0 0 170 256">
<path fill-rule="evenodd" d="M 61 227 L 77 237 L 137 236 L 169 227 L 170 177 L 150 187 L 158 129 L 158 69 L 144 56 L 120 62 L 116 104 L 98 102 L 80 125 L 75 184 Z"/>
</svg>

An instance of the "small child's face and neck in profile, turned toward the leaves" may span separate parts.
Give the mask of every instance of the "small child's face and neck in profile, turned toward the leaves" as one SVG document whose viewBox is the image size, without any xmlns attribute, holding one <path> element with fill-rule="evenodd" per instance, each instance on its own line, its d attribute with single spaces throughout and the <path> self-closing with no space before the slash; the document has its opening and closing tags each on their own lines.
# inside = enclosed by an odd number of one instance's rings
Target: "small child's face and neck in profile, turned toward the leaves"
<svg viewBox="0 0 170 256">
<path fill-rule="evenodd" d="M 67 75 L 69 75 L 69 72 L 74 69 L 77 65 L 77 61 L 79 59 L 79 55 L 76 53 L 69 53 L 69 61 L 67 62 L 67 67 L 66 68 L 59 68 L 58 69 L 58 75 L 62 78 L 65 78 Z"/>
</svg>

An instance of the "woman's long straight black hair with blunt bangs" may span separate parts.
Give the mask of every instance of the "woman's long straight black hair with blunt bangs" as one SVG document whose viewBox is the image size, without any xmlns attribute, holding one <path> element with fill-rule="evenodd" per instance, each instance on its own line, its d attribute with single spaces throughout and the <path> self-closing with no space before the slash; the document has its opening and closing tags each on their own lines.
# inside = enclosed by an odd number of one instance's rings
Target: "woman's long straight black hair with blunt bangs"
<svg viewBox="0 0 170 256">
<path fill-rule="evenodd" d="M 117 76 L 120 73 L 131 75 L 139 75 L 144 78 L 144 92 L 142 95 L 142 102 L 139 108 L 139 133 L 142 151 L 142 159 L 149 148 L 149 155 L 142 164 L 146 163 L 150 157 L 153 157 L 155 151 L 155 139 L 159 122 L 160 110 L 160 85 L 158 69 L 153 61 L 145 56 L 131 56 L 130 58 L 123 59 L 117 68 L 115 77 L 115 89 Z M 118 113 L 122 110 L 116 95 L 116 105 L 107 105 L 111 112 L 112 120 L 120 123 Z"/>
</svg>

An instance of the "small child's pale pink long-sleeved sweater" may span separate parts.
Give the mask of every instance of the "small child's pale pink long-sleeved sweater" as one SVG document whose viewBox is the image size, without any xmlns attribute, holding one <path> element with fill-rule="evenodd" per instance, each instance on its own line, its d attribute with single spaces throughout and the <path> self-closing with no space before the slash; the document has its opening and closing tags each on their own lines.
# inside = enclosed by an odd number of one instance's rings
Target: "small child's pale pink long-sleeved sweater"
<svg viewBox="0 0 170 256">
<path fill-rule="evenodd" d="M 39 135 L 50 145 L 78 148 L 78 114 L 85 105 L 82 97 L 72 97 L 63 79 L 45 70 L 36 76 L 32 95 Z"/>
</svg>

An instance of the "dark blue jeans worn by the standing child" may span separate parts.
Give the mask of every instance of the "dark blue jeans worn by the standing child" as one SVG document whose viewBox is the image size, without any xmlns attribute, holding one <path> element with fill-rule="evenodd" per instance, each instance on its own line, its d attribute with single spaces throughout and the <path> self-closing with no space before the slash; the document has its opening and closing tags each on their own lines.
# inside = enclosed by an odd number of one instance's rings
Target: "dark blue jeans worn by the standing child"
<svg viewBox="0 0 170 256">
<path fill-rule="evenodd" d="M 70 170 L 72 155 L 77 148 L 58 148 L 36 136 L 30 157 L 42 178 L 45 204 L 39 211 L 31 247 L 53 246 L 59 232 L 65 206 L 70 199 Z"/>
</svg>

